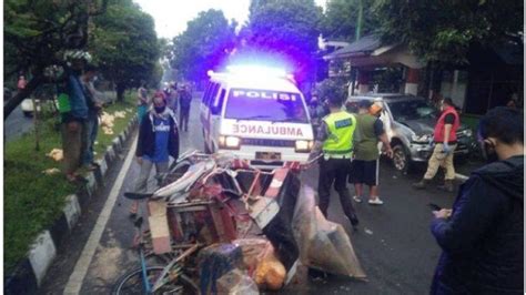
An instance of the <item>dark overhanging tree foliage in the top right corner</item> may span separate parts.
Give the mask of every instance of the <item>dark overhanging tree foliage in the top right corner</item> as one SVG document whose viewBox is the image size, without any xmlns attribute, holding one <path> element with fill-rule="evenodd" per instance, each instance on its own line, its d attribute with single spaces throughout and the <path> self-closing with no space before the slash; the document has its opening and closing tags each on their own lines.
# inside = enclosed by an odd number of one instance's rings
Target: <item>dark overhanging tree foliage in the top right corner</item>
<svg viewBox="0 0 526 295">
<path fill-rule="evenodd" d="M 466 63 L 474 44 L 523 41 L 523 0 L 376 0 L 378 32 L 386 42 L 408 44 L 425 61 Z"/>
</svg>

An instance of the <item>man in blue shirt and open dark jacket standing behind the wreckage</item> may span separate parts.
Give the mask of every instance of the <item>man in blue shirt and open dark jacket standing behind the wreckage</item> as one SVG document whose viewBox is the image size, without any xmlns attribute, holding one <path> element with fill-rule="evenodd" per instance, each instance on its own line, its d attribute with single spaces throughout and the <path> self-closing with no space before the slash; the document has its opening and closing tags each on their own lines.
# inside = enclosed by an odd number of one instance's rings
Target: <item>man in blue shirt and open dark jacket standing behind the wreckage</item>
<svg viewBox="0 0 526 295">
<path fill-rule="evenodd" d="M 153 96 L 153 108 L 141 122 L 136 143 L 136 161 L 141 165 L 139 180 L 135 183 L 136 193 L 145 193 L 148 179 L 152 166 L 155 165 L 156 175 L 168 172 L 170 156 L 179 157 L 179 126 L 175 114 L 166 106 L 164 93 L 158 92 Z M 138 203 L 130 210 L 136 214 Z"/>
</svg>

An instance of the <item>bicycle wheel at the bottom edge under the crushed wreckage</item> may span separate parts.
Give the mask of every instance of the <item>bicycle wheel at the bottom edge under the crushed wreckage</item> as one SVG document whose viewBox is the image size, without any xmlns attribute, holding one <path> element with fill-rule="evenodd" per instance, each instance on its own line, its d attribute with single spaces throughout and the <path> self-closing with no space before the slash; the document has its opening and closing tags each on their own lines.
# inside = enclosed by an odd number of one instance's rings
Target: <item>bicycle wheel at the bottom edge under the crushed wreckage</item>
<svg viewBox="0 0 526 295">
<path fill-rule="evenodd" d="M 150 281 L 150 284 L 153 285 L 155 279 L 161 275 L 163 266 L 148 266 L 146 276 Z M 117 284 L 113 285 L 111 291 L 113 295 L 134 295 L 134 294 L 144 294 L 144 287 L 142 285 L 142 268 L 131 271 L 117 281 Z M 155 294 L 184 294 L 193 295 L 199 294 L 198 285 L 189 278 L 186 275 L 181 275 L 176 281 L 169 282 Z"/>
</svg>

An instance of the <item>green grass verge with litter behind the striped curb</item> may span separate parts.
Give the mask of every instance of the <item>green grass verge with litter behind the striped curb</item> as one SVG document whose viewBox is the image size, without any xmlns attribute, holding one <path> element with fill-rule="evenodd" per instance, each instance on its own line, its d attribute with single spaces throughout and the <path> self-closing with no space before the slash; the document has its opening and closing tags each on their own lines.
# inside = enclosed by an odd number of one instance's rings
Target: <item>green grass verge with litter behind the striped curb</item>
<svg viewBox="0 0 526 295">
<path fill-rule="evenodd" d="M 104 109 L 108 113 L 127 111 L 125 118 L 115 118 L 113 134 L 108 135 L 99 128 L 95 151 L 102 157 L 134 115 L 132 95 Z M 62 149 L 57 116 L 45 118 L 40 124 L 40 151 L 36 151 L 34 132 L 7 142 L 3 151 L 3 271 L 9 274 L 28 253 L 37 235 L 48 228 L 60 215 L 64 197 L 77 189 L 68 183 L 62 173 L 47 175 L 48 169 L 62 169 L 45 154 L 52 149 Z"/>
</svg>

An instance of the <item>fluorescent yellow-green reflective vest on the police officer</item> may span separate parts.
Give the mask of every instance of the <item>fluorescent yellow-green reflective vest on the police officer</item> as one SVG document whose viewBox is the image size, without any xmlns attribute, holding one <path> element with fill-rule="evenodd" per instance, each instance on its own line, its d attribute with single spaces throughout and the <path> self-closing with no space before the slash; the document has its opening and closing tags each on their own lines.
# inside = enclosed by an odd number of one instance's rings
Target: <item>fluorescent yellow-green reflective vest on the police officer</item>
<svg viewBox="0 0 526 295">
<path fill-rule="evenodd" d="M 345 111 L 341 111 L 328 114 L 323 121 L 328 130 L 328 138 L 323 142 L 323 153 L 325 155 L 351 157 L 356 118 Z"/>
</svg>

